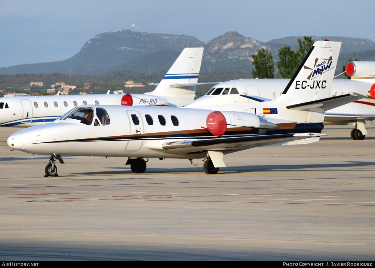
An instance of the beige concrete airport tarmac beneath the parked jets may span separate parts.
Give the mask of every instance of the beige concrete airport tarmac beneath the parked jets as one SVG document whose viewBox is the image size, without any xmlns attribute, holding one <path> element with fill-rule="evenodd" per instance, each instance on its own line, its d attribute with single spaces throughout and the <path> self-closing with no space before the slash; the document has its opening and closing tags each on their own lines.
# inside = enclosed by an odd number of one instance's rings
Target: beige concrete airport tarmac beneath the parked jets
<svg viewBox="0 0 375 268">
<path fill-rule="evenodd" d="M 373 261 L 375 128 L 327 126 L 309 145 L 203 162 L 49 157 L 10 151 L 0 128 L 0 259 Z"/>
</svg>

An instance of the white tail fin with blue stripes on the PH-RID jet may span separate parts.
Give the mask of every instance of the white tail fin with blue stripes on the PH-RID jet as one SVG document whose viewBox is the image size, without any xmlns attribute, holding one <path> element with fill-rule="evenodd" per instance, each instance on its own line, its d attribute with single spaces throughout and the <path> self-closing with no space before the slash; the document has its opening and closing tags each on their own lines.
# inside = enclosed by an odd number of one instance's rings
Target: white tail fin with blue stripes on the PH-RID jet
<svg viewBox="0 0 375 268">
<path fill-rule="evenodd" d="M 193 100 L 196 86 L 171 87 L 170 85 L 198 82 L 202 55 L 203 48 L 185 48 L 155 90 L 145 94 Z"/>
</svg>

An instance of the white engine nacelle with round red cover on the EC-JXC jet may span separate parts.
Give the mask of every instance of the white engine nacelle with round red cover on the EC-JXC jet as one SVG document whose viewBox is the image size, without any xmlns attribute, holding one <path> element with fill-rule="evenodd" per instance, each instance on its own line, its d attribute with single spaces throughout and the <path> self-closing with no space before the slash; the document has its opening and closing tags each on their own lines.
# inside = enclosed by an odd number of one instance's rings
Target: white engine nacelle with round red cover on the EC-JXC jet
<svg viewBox="0 0 375 268">
<path fill-rule="evenodd" d="M 233 127 L 257 127 L 270 129 L 277 127 L 266 119 L 247 112 L 214 111 L 208 114 L 206 119 L 207 129 L 215 136 L 222 136 L 227 128 Z"/>
</svg>

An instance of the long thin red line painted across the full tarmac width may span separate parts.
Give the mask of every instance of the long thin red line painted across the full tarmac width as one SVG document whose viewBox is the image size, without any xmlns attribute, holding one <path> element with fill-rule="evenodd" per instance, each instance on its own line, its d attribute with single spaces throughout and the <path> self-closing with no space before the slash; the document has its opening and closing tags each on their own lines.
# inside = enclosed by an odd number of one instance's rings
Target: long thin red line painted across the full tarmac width
<svg viewBox="0 0 375 268">
<path fill-rule="evenodd" d="M 0 196 L 0 198 L 30 198 L 21 196 Z M 36 199 L 45 199 L 42 197 L 34 197 Z M 110 198 L 62 198 L 49 197 L 50 199 L 69 199 L 69 200 L 114 200 L 114 201 L 163 201 L 163 202 L 204 202 L 204 203 L 243 203 L 243 204 L 279 204 L 279 205 L 330 205 L 330 206 L 369 206 L 375 205 L 360 205 L 360 204 L 318 204 L 318 203 L 281 203 L 281 202 L 248 202 L 248 201 L 194 201 L 194 200 L 165 200 L 165 199 L 110 199 Z"/>
</svg>

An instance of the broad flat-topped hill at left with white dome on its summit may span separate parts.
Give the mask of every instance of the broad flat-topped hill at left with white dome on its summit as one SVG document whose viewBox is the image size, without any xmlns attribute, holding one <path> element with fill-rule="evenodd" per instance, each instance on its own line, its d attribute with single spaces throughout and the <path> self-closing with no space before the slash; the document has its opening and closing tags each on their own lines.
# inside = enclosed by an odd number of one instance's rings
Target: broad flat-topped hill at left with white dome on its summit
<svg viewBox="0 0 375 268">
<path fill-rule="evenodd" d="M 1 74 L 15 73 L 103 73 L 141 55 L 202 45 L 195 37 L 178 34 L 144 33 L 135 30 L 118 30 L 94 36 L 73 57 L 48 63 L 23 64 L 0 68 Z"/>
</svg>

